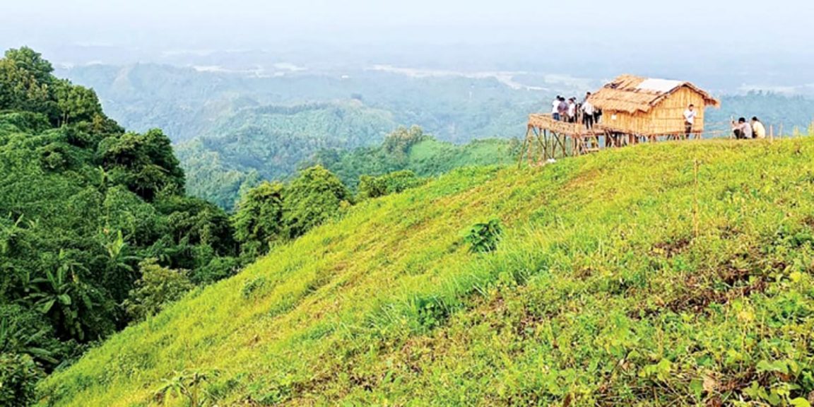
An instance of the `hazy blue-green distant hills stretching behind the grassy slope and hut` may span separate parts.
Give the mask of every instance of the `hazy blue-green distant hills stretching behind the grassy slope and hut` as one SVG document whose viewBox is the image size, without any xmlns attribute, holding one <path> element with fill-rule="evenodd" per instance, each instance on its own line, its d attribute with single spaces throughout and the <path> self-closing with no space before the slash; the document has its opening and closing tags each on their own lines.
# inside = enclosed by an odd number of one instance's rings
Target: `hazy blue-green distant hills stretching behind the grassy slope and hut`
<svg viewBox="0 0 814 407">
<path fill-rule="evenodd" d="M 522 138 L 527 114 L 546 111 L 549 98 L 600 85 L 529 72 L 278 70 L 137 64 L 64 73 L 94 87 L 106 111 L 128 128 L 164 129 L 177 145 L 190 193 L 227 209 L 260 179 L 286 179 L 303 163 L 325 161 L 330 154 L 321 151 L 374 148 L 400 126 L 418 125 L 441 142 Z M 707 128 L 724 134 L 729 120 L 741 116 L 759 116 L 778 133 L 805 130 L 814 120 L 814 101 L 807 98 L 753 92 L 724 95 L 722 104 L 708 112 Z M 358 182 L 349 175 L 344 181 Z"/>
</svg>

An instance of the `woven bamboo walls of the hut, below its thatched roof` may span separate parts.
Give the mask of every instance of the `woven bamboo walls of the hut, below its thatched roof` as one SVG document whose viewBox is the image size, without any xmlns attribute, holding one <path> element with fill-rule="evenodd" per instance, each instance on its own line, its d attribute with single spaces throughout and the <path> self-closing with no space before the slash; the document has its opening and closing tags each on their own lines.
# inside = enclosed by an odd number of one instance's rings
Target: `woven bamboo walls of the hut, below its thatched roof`
<svg viewBox="0 0 814 407">
<path fill-rule="evenodd" d="M 693 131 L 700 133 L 704 130 L 705 101 L 702 95 L 686 87 L 676 90 L 647 113 L 602 112 L 602 127 L 641 136 L 684 134 L 684 111 L 690 104 L 698 112 Z"/>
</svg>

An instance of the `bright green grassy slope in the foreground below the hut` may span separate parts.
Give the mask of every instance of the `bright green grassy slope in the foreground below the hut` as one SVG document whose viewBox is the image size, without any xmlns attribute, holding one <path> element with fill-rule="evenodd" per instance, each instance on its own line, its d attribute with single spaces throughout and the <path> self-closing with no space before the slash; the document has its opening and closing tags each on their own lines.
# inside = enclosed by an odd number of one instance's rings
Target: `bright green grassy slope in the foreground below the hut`
<svg viewBox="0 0 814 407">
<path fill-rule="evenodd" d="M 457 170 L 115 335 L 42 403 L 804 405 L 812 157 L 710 141 Z M 468 253 L 493 217 L 497 251 Z"/>
</svg>

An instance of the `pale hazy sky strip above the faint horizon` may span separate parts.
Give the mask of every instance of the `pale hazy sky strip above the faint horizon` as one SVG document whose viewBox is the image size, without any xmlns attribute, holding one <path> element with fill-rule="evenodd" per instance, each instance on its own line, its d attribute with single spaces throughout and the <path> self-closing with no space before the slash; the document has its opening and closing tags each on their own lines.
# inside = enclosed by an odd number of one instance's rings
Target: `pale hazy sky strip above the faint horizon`
<svg viewBox="0 0 814 407">
<path fill-rule="evenodd" d="M 792 47 L 814 39 L 809 0 L 0 0 L 0 33 L 73 42 L 326 37 L 515 41 L 556 29 L 615 41 L 684 38 Z M 43 34 L 45 33 L 45 34 Z M 33 41 L 32 40 L 32 41 Z M 204 41 L 205 42 L 205 41 Z"/>
</svg>

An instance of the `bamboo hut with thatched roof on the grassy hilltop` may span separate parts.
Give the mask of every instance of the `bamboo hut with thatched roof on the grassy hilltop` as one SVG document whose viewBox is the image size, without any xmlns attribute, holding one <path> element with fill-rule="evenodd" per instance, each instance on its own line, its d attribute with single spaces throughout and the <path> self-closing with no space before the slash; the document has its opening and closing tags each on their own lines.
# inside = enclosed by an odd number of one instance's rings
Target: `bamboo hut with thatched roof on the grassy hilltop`
<svg viewBox="0 0 814 407">
<path fill-rule="evenodd" d="M 704 107 L 720 102 L 685 81 L 670 81 L 624 75 L 592 94 L 589 101 L 602 109 L 599 127 L 606 133 L 657 138 L 685 134 L 684 112 L 695 105 L 693 133 L 704 131 Z"/>
</svg>

